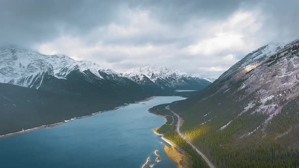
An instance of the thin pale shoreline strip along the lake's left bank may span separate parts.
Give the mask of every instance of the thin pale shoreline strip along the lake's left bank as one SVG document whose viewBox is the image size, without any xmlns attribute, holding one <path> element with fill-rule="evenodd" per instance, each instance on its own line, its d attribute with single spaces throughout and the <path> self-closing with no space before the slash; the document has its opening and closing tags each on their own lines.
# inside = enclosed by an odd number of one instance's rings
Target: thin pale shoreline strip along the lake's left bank
<svg viewBox="0 0 299 168">
<path fill-rule="evenodd" d="M 130 103 L 130 104 L 138 104 L 140 102 L 147 102 L 147 101 L 150 101 L 154 98 L 155 98 L 155 96 L 152 96 L 152 97 L 146 98 L 144 100 L 136 101 L 136 102 Z M 42 126 L 39 126 L 39 127 L 34 127 L 34 128 L 31 128 L 31 129 L 27 129 L 27 130 L 22 130 L 22 131 L 18 131 L 18 132 L 14 132 L 14 133 L 0 135 L 0 139 L 8 138 L 8 137 L 16 136 L 16 135 L 21 135 L 21 134 L 26 134 L 26 133 L 30 133 L 30 132 L 37 131 L 37 130 L 42 130 L 42 129 L 51 129 L 53 127 L 56 127 L 56 126 L 61 125 L 61 124 L 65 124 L 67 122 L 70 122 L 70 121 L 73 121 L 73 120 L 76 120 L 76 119 L 86 118 L 86 117 L 94 116 L 94 115 L 97 115 L 97 114 L 100 114 L 100 113 L 103 113 L 103 112 L 117 110 L 121 107 L 125 107 L 125 106 L 130 105 L 130 104 L 124 103 L 123 105 L 115 107 L 115 108 L 110 109 L 110 110 L 99 111 L 99 112 L 91 113 L 89 115 L 84 115 L 84 116 L 81 116 L 81 117 L 73 117 L 73 118 L 70 118 L 68 120 L 64 120 L 64 121 L 61 121 L 61 122 L 56 122 L 56 123 L 52 123 L 52 124 L 42 125 Z"/>
</svg>

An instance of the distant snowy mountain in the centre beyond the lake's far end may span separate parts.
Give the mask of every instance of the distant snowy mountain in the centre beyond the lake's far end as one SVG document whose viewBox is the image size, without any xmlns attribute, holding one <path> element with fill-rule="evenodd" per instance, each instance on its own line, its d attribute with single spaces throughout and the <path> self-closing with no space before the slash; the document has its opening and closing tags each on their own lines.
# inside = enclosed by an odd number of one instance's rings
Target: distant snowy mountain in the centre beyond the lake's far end
<svg viewBox="0 0 299 168">
<path fill-rule="evenodd" d="M 127 70 L 123 72 L 123 76 L 139 85 L 162 90 L 202 90 L 211 83 L 201 76 L 151 65 Z"/>
</svg>

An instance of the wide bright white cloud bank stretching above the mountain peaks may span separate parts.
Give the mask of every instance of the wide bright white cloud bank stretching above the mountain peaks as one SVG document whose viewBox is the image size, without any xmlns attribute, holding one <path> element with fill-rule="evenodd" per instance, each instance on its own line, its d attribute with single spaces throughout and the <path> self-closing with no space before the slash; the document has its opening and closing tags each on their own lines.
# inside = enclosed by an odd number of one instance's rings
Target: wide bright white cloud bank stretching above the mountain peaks
<svg viewBox="0 0 299 168">
<path fill-rule="evenodd" d="M 125 8 L 121 14 L 119 20 L 85 36 L 61 36 L 36 49 L 97 62 L 118 72 L 153 64 L 218 77 L 259 47 L 252 38 L 260 27 L 257 14 L 239 11 L 224 21 L 193 19 L 176 27 L 155 20 L 149 11 Z"/>
</svg>

